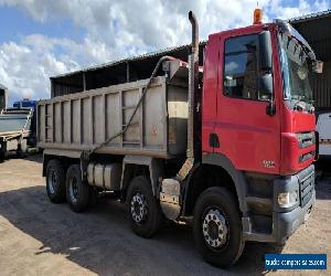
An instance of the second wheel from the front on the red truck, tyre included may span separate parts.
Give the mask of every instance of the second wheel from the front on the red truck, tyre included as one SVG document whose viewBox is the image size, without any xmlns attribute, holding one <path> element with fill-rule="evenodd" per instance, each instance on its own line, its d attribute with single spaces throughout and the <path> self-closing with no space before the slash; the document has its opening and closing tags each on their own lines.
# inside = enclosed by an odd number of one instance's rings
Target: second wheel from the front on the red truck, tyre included
<svg viewBox="0 0 331 276">
<path fill-rule="evenodd" d="M 126 202 L 132 231 L 142 237 L 154 235 L 160 229 L 161 210 L 147 177 L 134 178 Z"/>
</svg>

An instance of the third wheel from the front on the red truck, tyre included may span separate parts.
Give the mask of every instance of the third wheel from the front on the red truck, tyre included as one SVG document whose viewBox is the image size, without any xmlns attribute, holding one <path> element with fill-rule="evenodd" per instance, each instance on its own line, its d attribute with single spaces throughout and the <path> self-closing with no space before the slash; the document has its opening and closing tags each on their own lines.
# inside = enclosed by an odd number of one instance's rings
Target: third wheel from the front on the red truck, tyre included
<svg viewBox="0 0 331 276">
<path fill-rule="evenodd" d="M 82 180 L 79 164 L 72 164 L 66 172 L 66 200 L 74 212 L 84 212 L 89 202 L 89 185 Z"/>
</svg>

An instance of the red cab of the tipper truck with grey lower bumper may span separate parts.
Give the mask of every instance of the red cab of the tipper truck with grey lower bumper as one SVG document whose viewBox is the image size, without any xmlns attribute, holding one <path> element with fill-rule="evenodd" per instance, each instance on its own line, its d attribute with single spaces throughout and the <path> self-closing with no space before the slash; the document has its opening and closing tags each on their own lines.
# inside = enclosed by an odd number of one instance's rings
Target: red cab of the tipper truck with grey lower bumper
<svg viewBox="0 0 331 276">
<path fill-rule="evenodd" d="M 282 244 L 313 205 L 311 56 L 308 43 L 282 21 L 209 38 L 202 163 L 231 176 L 246 241 Z"/>
</svg>

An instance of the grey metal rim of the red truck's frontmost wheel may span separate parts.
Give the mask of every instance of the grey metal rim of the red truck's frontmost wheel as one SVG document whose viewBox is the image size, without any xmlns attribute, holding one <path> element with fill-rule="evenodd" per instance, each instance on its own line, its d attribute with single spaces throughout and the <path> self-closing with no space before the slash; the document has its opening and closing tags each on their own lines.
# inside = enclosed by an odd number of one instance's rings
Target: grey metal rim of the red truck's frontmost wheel
<svg viewBox="0 0 331 276">
<path fill-rule="evenodd" d="M 218 209 L 210 209 L 202 220 L 205 243 L 215 250 L 222 248 L 228 240 L 226 220 Z"/>
</svg>

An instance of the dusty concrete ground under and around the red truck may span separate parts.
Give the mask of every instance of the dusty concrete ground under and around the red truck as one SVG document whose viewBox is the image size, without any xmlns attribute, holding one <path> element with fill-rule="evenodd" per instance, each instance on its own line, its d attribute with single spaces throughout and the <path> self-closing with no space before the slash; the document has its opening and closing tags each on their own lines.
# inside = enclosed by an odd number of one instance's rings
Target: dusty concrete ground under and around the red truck
<svg viewBox="0 0 331 276">
<path fill-rule="evenodd" d="M 282 253 L 327 253 L 328 270 L 264 268 L 269 245 L 247 243 L 239 262 L 227 270 L 204 263 L 191 227 L 167 224 L 152 240 L 136 236 L 125 208 L 106 199 L 87 213 L 52 204 L 41 177 L 40 157 L 0 163 L 1 275 L 220 275 L 328 274 L 331 264 L 331 182 L 317 184 L 317 204 L 308 223 Z"/>
</svg>

